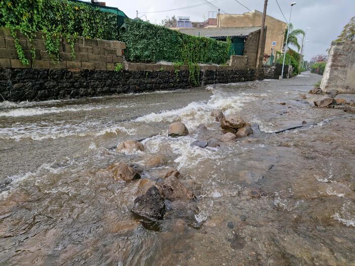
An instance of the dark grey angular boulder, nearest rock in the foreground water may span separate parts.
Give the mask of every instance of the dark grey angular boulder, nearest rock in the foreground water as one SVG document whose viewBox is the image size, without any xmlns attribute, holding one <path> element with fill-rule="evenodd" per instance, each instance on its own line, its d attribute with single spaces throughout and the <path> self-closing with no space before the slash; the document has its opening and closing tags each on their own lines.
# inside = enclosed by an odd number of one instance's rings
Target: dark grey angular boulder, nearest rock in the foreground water
<svg viewBox="0 0 355 266">
<path fill-rule="evenodd" d="M 165 204 L 156 186 L 151 186 L 144 195 L 134 200 L 132 212 L 148 219 L 162 219 L 165 214 Z"/>
</svg>

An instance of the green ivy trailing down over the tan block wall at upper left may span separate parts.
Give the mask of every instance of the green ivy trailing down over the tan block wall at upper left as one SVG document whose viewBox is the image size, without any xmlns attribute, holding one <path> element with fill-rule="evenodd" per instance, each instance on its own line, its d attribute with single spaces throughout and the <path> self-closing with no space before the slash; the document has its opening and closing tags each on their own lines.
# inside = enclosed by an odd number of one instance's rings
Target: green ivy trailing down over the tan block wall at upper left
<svg viewBox="0 0 355 266">
<path fill-rule="evenodd" d="M 118 40 L 117 15 L 101 12 L 84 3 L 68 0 L 2 0 L 0 14 L 0 26 L 10 28 L 19 59 L 25 65 L 28 64 L 28 58 L 19 43 L 18 32 L 29 39 L 32 58 L 35 32 L 44 32 L 46 50 L 54 60 L 59 60 L 61 37 L 70 45 L 73 59 L 74 43 L 78 36 Z"/>
</svg>

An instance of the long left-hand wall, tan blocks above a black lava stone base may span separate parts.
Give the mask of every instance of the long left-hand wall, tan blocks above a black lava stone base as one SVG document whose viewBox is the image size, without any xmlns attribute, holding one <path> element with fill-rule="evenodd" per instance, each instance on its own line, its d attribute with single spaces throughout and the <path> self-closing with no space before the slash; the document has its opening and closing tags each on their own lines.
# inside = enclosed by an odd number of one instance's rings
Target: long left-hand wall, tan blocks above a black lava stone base
<svg viewBox="0 0 355 266">
<path fill-rule="evenodd" d="M 27 58 L 31 58 L 30 42 L 21 34 L 18 37 Z M 33 44 L 35 60 L 23 65 L 9 30 L 0 28 L 0 101 L 37 101 L 186 89 L 256 79 L 255 69 L 248 68 L 247 56 L 232 57 L 231 65 L 199 64 L 194 75 L 197 79 L 195 83 L 191 80 L 188 65 L 125 61 L 123 53 L 126 45 L 118 41 L 79 37 L 74 44 L 74 60 L 69 44 L 62 41 L 59 45 L 59 62 L 51 60 L 46 52 L 42 33 L 36 33 Z M 122 63 L 122 69 L 115 69 L 115 63 Z M 260 79 L 262 77 L 262 74 L 259 75 Z"/>
</svg>

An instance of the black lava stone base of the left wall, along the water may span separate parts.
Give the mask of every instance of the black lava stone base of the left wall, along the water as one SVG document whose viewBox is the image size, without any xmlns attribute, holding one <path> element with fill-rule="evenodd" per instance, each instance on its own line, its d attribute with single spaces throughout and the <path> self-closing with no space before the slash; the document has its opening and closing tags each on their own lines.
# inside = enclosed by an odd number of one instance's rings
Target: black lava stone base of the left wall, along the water
<svg viewBox="0 0 355 266">
<path fill-rule="evenodd" d="M 200 71 L 200 84 L 254 81 L 254 69 Z M 0 94 L 9 101 L 39 101 L 191 88 L 189 71 L 0 68 Z M 0 97 L 0 101 L 3 98 Z"/>
</svg>

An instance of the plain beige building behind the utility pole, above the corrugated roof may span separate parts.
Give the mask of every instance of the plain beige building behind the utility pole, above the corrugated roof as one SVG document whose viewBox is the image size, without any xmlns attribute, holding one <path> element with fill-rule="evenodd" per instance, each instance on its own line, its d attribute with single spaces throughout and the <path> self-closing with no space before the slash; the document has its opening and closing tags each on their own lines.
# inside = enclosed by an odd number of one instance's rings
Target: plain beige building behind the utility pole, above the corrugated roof
<svg viewBox="0 0 355 266">
<path fill-rule="evenodd" d="M 263 13 L 257 10 L 253 12 L 247 12 L 244 14 L 218 14 L 217 15 L 217 27 L 255 27 L 261 25 Z M 287 29 L 287 23 L 281 20 L 275 19 L 271 16 L 266 16 L 265 26 L 267 26 L 265 54 L 271 54 L 271 48 L 281 52 L 283 39 L 285 37 L 285 30 Z M 272 43 L 276 42 L 275 46 Z"/>
</svg>

